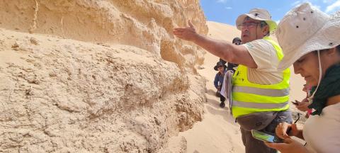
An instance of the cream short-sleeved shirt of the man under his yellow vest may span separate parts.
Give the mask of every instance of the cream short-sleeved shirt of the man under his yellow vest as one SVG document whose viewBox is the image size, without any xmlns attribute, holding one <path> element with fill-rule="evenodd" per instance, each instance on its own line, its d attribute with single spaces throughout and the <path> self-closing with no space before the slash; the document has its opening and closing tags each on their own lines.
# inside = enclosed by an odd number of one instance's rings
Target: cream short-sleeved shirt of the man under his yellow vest
<svg viewBox="0 0 340 153">
<path fill-rule="evenodd" d="M 263 39 L 243 44 L 253 57 L 257 68 L 248 68 L 248 80 L 254 84 L 278 84 L 283 80 L 283 72 L 277 70 L 278 55 L 276 50 Z"/>
</svg>

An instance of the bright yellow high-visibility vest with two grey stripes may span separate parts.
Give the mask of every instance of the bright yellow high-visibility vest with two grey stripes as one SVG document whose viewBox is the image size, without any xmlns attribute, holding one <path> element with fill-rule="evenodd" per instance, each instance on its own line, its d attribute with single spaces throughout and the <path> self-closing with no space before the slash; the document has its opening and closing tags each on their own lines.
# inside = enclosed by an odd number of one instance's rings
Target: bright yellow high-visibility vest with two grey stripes
<svg viewBox="0 0 340 153">
<path fill-rule="evenodd" d="M 282 60 L 283 52 L 278 43 L 269 37 L 263 39 L 271 42 L 278 55 L 278 60 Z M 248 68 L 240 64 L 233 76 L 232 115 L 234 118 L 250 113 L 288 110 L 289 68 L 282 72 L 282 81 L 269 85 L 251 83 L 248 80 L 247 71 Z"/>
</svg>

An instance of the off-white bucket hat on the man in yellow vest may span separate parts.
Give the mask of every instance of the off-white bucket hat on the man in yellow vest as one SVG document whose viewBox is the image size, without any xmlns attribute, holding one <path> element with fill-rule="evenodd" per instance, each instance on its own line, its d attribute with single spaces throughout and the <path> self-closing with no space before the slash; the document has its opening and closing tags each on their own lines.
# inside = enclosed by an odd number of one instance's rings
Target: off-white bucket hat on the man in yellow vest
<svg viewBox="0 0 340 153">
<path fill-rule="evenodd" d="M 271 14 L 268 11 L 262 8 L 253 8 L 249 11 L 249 13 L 244 13 L 237 17 L 236 27 L 238 30 L 241 30 L 240 25 L 242 25 L 244 18 L 246 18 L 247 16 L 257 21 L 266 21 L 269 26 L 270 32 L 273 32 L 277 27 L 276 22 L 271 20 Z"/>
</svg>

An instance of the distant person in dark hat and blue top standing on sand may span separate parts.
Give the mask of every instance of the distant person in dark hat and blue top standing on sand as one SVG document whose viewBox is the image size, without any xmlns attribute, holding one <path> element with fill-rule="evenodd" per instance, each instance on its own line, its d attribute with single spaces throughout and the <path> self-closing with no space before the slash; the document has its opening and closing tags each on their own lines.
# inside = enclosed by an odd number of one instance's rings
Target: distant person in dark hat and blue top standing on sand
<svg viewBox="0 0 340 153">
<path fill-rule="evenodd" d="M 225 77 L 225 67 L 226 66 L 225 64 L 223 64 L 223 62 L 217 62 L 216 66 L 214 67 L 214 69 L 218 71 L 217 74 L 215 75 L 214 85 L 215 85 L 215 88 L 217 89 L 216 96 L 220 97 L 221 108 L 225 107 L 225 97 L 220 94 L 220 91 L 222 89 L 223 79 Z"/>
</svg>

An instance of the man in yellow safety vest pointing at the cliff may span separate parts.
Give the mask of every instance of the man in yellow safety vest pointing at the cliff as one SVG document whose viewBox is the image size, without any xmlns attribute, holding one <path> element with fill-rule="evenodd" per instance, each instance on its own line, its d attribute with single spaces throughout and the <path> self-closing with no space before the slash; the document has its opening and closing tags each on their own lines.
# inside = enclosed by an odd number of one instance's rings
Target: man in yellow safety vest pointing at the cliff
<svg viewBox="0 0 340 153">
<path fill-rule="evenodd" d="M 174 35 L 203 47 L 227 62 L 239 64 L 233 76 L 232 115 L 241 126 L 246 152 L 276 152 L 251 136 L 251 130 L 275 132 L 280 122 L 292 122 L 289 105 L 290 70 L 278 70 L 280 46 L 268 36 L 276 29 L 268 11 L 254 8 L 237 18 L 243 45 L 213 40 L 196 33 L 192 23 Z"/>
</svg>

